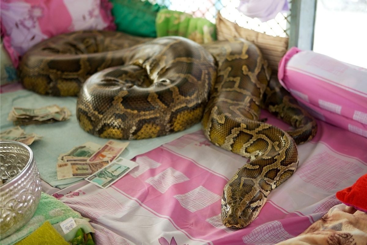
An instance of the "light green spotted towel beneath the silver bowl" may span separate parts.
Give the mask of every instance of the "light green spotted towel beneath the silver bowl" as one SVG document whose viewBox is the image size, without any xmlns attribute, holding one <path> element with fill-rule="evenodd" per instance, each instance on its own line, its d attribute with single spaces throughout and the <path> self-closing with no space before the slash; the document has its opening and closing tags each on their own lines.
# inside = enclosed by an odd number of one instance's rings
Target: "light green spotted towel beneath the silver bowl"
<svg viewBox="0 0 367 245">
<path fill-rule="evenodd" d="M 1 239 L 0 244 L 14 244 L 37 230 L 45 221 L 48 221 L 50 224 L 56 224 L 69 217 L 90 220 L 82 217 L 80 213 L 74 211 L 65 203 L 42 192 L 40 202 L 32 219 L 15 233 Z"/>
</svg>

